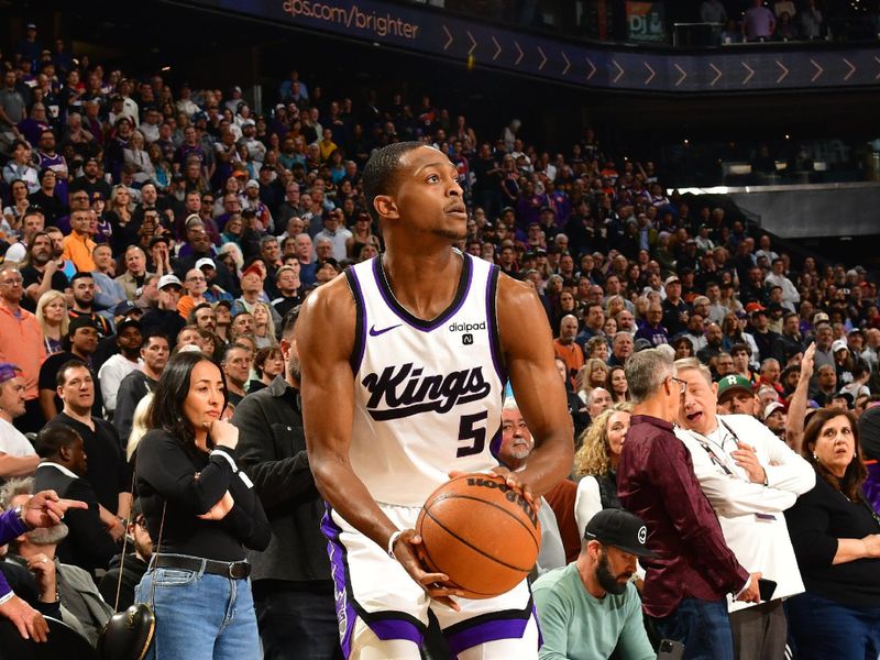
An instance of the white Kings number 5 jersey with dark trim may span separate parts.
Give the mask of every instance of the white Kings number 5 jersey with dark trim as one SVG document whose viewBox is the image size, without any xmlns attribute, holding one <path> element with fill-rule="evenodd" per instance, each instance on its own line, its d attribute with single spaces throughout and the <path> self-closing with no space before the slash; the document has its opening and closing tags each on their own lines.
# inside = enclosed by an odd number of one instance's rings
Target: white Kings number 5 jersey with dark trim
<svg viewBox="0 0 880 660">
<path fill-rule="evenodd" d="M 421 506 L 452 471 L 498 464 L 504 384 L 496 266 L 463 260 L 452 304 L 436 319 L 394 297 L 381 257 L 346 271 L 358 310 L 354 472 L 381 503 Z"/>
</svg>

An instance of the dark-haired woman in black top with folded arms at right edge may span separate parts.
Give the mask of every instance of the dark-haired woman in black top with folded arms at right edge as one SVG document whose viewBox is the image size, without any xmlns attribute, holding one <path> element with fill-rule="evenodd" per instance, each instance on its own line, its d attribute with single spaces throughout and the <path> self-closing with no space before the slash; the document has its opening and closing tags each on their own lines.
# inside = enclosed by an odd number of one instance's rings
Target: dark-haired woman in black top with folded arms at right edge
<svg viewBox="0 0 880 660">
<path fill-rule="evenodd" d="M 802 660 L 880 653 L 880 516 L 861 486 L 867 470 L 847 410 L 824 408 L 804 431 L 816 485 L 785 512 L 806 592 L 788 602 Z"/>
</svg>

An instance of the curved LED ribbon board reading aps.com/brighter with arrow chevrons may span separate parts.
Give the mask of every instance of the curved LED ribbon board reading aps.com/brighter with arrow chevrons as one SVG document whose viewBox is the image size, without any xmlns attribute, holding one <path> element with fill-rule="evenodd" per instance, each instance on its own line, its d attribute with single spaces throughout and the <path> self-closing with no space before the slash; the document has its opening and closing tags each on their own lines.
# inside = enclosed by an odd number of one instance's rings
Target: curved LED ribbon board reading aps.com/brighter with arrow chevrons
<svg viewBox="0 0 880 660">
<path fill-rule="evenodd" d="M 382 0 L 189 0 L 575 86 L 641 92 L 749 92 L 876 87 L 880 50 L 792 44 L 696 52 L 586 46 Z M 649 4 L 649 3 L 647 3 Z M 644 29 L 649 30 L 650 20 Z"/>
</svg>

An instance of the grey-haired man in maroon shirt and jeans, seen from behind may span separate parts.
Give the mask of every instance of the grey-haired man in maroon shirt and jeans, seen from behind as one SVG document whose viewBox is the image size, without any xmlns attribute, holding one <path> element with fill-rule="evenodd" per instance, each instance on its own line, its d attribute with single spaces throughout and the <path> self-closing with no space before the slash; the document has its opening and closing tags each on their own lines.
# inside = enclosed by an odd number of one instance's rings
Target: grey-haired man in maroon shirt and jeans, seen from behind
<svg viewBox="0 0 880 660">
<path fill-rule="evenodd" d="M 626 364 L 632 420 L 617 468 L 617 495 L 650 529 L 658 559 L 647 569 L 645 613 L 661 637 L 685 646 L 686 660 L 733 660 L 726 594 L 759 602 L 760 573 L 749 573 L 724 541 L 718 518 L 700 488 L 691 455 L 672 432 L 683 381 L 672 361 L 649 349 Z"/>
</svg>

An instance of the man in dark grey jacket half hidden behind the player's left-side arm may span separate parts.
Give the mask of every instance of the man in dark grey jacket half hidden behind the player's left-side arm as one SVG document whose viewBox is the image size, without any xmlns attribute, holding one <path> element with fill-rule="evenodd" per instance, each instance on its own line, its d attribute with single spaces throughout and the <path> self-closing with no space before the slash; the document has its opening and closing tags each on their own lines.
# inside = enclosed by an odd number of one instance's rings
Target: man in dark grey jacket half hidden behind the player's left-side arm
<svg viewBox="0 0 880 660">
<path fill-rule="evenodd" d="M 284 318 L 284 376 L 244 397 L 232 418 L 240 429 L 239 457 L 274 532 L 264 552 L 248 551 L 266 660 L 331 658 L 339 649 L 333 582 L 320 532 L 323 501 L 302 432 L 298 317 L 294 307 Z"/>
</svg>

